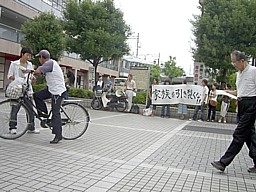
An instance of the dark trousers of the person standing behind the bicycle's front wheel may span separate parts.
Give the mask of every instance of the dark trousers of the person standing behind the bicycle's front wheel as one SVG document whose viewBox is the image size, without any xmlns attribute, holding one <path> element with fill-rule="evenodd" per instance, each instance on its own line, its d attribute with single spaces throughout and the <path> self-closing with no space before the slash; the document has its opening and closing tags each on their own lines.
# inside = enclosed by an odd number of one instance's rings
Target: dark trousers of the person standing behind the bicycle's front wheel
<svg viewBox="0 0 256 192">
<path fill-rule="evenodd" d="M 28 129 L 35 130 L 35 116 L 33 114 L 32 97 L 24 98 L 24 103 L 28 107 L 28 113 L 30 115 L 30 124 Z M 9 122 L 9 129 L 17 129 L 17 114 L 20 110 L 20 104 L 13 105 L 11 109 L 11 118 Z M 27 117 L 28 118 L 28 117 Z"/>
</svg>

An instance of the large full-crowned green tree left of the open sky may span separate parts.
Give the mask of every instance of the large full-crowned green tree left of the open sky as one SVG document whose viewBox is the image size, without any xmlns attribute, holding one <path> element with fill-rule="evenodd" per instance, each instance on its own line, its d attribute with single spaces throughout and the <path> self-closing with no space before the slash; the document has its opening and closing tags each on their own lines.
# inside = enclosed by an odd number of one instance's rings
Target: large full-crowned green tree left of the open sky
<svg viewBox="0 0 256 192">
<path fill-rule="evenodd" d="M 113 0 L 81 3 L 71 0 L 66 5 L 64 19 L 68 51 L 88 60 L 95 67 L 95 76 L 101 62 L 129 52 L 126 40 L 130 28 Z"/>
</svg>

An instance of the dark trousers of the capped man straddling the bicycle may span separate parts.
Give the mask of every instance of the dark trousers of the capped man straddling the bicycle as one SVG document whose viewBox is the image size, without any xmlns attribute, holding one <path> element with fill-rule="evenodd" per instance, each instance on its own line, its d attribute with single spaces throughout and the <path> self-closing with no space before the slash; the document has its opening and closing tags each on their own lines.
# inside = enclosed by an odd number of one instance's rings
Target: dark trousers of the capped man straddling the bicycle
<svg viewBox="0 0 256 192">
<path fill-rule="evenodd" d="M 60 106 L 63 97 L 59 95 L 52 95 L 48 91 L 48 87 L 34 93 L 34 100 L 38 108 L 38 115 L 41 117 L 48 116 L 48 110 L 44 100 L 51 98 L 52 100 L 52 133 L 60 137 L 62 135 L 62 125 L 60 116 Z M 43 112 L 43 113 L 42 113 Z"/>
</svg>

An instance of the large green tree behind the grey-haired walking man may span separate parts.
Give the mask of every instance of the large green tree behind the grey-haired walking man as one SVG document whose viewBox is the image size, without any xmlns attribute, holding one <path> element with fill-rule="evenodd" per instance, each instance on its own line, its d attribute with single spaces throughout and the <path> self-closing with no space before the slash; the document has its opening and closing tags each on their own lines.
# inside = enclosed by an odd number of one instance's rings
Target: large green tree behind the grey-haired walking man
<svg viewBox="0 0 256 192">
<path fill-rule="evenodd" d="M 233 50 L 256 56 L 256 1 L 204 1 L 204 12 L 191 21 L 196 47 L 195 61 L 204 62 L 214 71 L 217 81 L 227 81 L 234 72 L 230 65 Z"/>
</svg>

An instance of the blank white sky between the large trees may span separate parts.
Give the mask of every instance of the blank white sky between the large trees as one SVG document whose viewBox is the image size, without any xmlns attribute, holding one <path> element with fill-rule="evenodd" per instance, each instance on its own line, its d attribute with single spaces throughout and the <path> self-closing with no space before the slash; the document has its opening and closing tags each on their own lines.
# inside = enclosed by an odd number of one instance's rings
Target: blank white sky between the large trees
<svg viewBox="0 0 256 192">
<path fill-rule="evenodd" d="M 199 15 L 199 0 L 114 0 L 124 13 L 124 19 L 134 32 L 134 39 L 128 41 L 131 54 L 136 55 L 139 33 L 138 56 L 160 63 L 176 57 L 177 65 L 186 74 L 193 73 L 192 25 L 193 14 Z"/>
</svg>

